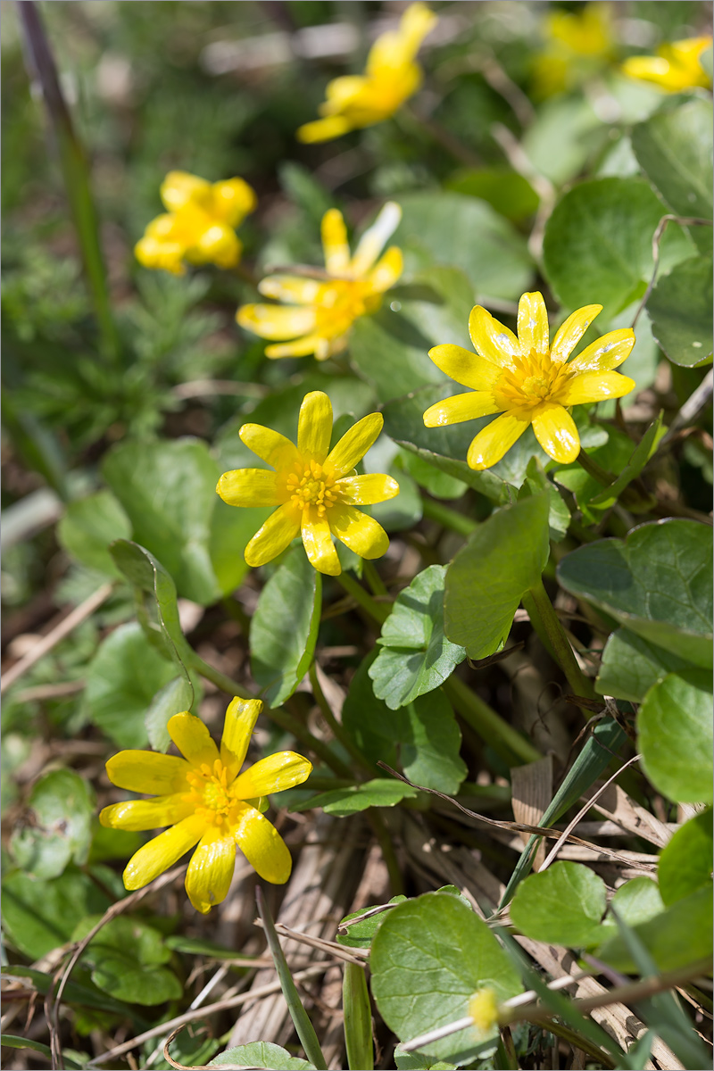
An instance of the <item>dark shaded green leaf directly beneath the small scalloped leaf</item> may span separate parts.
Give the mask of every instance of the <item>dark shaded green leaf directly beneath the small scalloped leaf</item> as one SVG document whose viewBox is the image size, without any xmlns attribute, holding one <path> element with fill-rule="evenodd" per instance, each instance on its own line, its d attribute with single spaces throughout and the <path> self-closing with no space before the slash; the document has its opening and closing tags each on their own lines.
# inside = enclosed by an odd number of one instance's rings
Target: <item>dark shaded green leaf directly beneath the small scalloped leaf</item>
<svg viewBox="0 0 714 1071">
<path fill-rule="evenodd" d="M 467 774 L 460 757 L 461 730 L 441 691 L 429 692 L 398 710 L 375 696 L 370 652 L 358 668 L 343 707 L 343 725 L 373 763 L 399 764 L 410 781 L 454 795 Z"/>
</svg>

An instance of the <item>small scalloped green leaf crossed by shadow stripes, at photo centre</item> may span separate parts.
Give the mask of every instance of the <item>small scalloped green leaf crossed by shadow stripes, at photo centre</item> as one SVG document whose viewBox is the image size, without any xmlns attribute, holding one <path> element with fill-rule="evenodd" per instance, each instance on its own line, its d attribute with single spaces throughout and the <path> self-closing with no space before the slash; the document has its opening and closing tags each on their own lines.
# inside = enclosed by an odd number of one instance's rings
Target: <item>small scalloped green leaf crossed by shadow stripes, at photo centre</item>
<svg viewBox="0 0 714 1071">
<path fill-rule="evenodd" d="M 431 692 L 464 661 L 444 636 L 445 565 L 429 565 L 401 591 L 382 625 L 382 650 L 369 668 L 375 695 L 391 710 Z"/>
</svg>

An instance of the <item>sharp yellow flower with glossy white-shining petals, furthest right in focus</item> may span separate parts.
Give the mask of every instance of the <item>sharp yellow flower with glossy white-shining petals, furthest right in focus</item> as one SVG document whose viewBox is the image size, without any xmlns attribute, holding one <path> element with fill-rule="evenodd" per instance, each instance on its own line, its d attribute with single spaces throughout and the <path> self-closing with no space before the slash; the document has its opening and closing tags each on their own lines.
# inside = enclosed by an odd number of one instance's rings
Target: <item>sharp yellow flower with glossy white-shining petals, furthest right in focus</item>
<svg viewBox="0 0 714 1071">
<path fill-rule="evenodd" d="M 635 382 L 613 372 L 629 355 L 629 328 L 610 331 L 572 361 L 567 358 L 602 305 L 586 305 L 567 317 L 549 345 L 548 314 L 540 293 L 518 302 L 518 337 L 481 305 L 471 310 L 469 333 L 475 353 L 460 346 L 435 346 L 429 357 L 442 372 L 473 393 L 455 394 L 424 413 L 427 427 L 458 424 L 500 412 L 473 439 L 467 461 L 486 469 L 533 425 L 535 437 L 553 461 L 567 465 L 580 452 L 571 406 L 619 398 Z"/>
</svg>

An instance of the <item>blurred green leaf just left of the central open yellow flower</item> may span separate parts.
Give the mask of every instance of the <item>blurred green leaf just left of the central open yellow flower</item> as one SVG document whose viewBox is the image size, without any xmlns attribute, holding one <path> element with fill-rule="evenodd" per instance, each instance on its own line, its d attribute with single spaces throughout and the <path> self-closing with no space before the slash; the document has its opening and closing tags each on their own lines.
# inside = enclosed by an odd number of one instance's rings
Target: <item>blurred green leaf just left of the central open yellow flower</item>
<svg viewBox="0 0 714 1071">
<path fill-rule="evenodd" d="M 180 594 L 208 605 L 219 595 L 209 543 L 221 474 L 199 439 L 126 441 L 102 472 L 132 522 L 134 540 L 155 554 Z"/>
</svg>

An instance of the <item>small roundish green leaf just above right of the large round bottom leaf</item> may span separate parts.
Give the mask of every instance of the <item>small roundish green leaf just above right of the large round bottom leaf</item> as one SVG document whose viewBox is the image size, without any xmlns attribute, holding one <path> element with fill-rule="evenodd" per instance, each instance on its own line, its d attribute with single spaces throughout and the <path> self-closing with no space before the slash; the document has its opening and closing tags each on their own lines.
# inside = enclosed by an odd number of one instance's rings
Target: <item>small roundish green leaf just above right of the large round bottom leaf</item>
<svg viewBox="0 0 714 1071">
<path fill-rule="evenodd" d="M 605 905 L 605 883 L 594 871 L 557 862 L 521 881 L 511 902 L 511 918 L 534 940 L 581 948 L 593 944 Z"/>
</svg>

